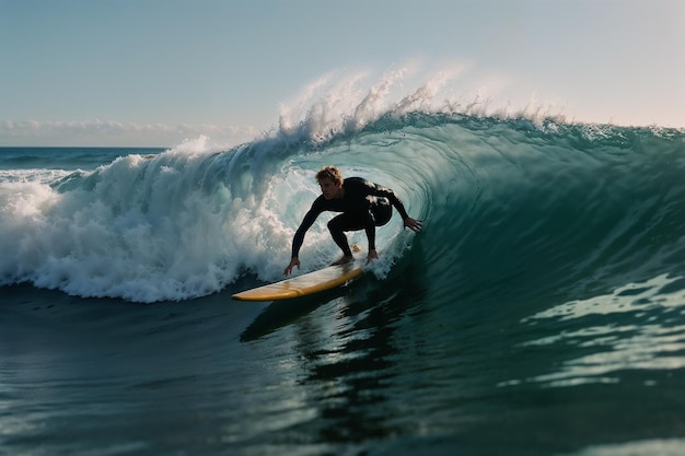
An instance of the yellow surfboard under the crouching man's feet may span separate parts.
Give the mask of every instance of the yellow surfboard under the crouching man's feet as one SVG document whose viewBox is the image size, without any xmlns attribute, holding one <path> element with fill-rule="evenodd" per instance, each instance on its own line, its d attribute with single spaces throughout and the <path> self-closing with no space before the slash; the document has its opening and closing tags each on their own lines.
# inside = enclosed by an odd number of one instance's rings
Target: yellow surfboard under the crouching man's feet
<svg viewBox="0 0 685 456">
<path fill-rule="evenodd" d="M 314 272 L 235 293 L 233 299 L 239 301 L 291 300 L 330 290 L 361 276 L 365 261 L 364 258 L 345 265 L 329 266 Z"/>
</svg>

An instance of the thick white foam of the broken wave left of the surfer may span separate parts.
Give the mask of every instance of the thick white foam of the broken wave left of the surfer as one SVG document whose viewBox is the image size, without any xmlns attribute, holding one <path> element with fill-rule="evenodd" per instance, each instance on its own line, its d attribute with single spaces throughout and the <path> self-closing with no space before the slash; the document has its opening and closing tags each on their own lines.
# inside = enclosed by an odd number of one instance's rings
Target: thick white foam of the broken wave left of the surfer
<svg viewBox="0 0 685 456">
<path fill-rule="evenodd" d="M 153 302 L 219 291 L 245 270 L 276 280 L 318 191 L 313 171 L 281 153 L 274 141 L 220 153 L 201 137 L 91 172 L 9 172 L 0 283 Z M 303 269 L 335 255 L 322 218 Z"/>
</svg>

